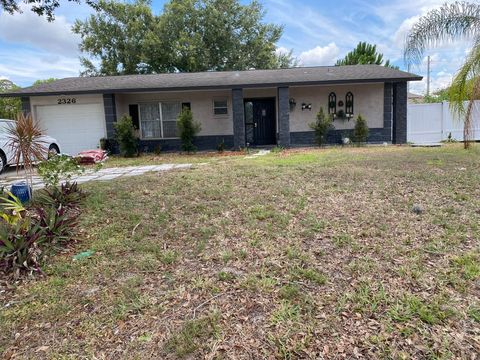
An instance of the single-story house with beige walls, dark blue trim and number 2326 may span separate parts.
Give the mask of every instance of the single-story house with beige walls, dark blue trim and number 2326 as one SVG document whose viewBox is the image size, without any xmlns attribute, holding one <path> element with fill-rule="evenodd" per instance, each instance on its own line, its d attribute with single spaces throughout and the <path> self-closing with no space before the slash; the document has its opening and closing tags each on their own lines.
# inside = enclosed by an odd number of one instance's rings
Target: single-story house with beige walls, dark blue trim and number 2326
<svg viewBox="0 0 480 360">
<path fill-rule="evenodd" d="M 309 124 L 320 107 L 335 114 L 328 142 L 338 143 L 362 115 L 368 141 L 407 141 L 407 82 L 420 76 L 378 65 L 297 67 L 200 73 L 74 77 L 0 94 L 22 98 L 62 152 L 97 148 L 113 139 L 129 114 L 141 150 L 176 150 L 184 106 L 201 123 L 199 149 L 314 143 Z"/>
</svg>

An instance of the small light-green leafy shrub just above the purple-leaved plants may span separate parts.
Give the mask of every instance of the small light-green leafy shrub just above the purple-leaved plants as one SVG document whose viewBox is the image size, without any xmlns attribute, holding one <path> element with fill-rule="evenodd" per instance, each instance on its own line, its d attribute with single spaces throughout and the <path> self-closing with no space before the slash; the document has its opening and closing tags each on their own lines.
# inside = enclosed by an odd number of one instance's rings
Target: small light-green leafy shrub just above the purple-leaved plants
<svg viewBox="0 0 480 360">
<path fill-rule="evenodd" d="M 47 187 L 58 186 L 60 179 L 69 181 L 84 171 L 77 160 L 68 155 L 55 155 L 38 165 L 38 174 Z"/>
</svg>

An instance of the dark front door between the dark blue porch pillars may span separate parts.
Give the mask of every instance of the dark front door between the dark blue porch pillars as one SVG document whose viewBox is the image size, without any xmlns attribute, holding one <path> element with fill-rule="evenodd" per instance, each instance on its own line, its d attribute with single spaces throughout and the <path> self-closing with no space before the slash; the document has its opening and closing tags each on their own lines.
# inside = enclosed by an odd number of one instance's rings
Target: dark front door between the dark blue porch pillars
<svg viewBox="0 0 480 360">
<path fill-rule="evenodd" d="M 245 100 L 245 137 L 250 146 L 276 143 L 275 99 Z"/>
</svg>

